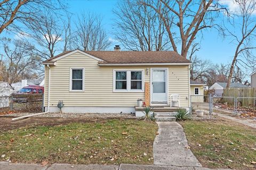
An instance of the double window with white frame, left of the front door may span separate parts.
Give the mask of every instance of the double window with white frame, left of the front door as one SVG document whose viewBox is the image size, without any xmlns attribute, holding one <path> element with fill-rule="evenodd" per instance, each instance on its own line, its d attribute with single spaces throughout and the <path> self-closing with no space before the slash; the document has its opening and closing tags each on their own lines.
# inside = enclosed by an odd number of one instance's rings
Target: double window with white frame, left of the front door
<svg viewBox="0 0 256 170">
<path fill-rule="evenodd" d="M 115 70 L 113 91 L 143 92 L 143 70 Z"/>
</svg>

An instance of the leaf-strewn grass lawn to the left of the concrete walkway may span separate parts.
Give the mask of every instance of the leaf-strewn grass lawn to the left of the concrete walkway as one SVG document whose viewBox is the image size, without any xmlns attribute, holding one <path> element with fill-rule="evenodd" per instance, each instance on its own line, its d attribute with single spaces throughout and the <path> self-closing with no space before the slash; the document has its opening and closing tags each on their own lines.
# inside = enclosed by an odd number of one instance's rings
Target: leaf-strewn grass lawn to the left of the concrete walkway
<svg viewBox="0 0 256 170">
<path fill-rule="evenodd" d="M 154 122 L 107 120 L 36 126 L 0 133 L 0 161 L 153 164 Z"/>
</svg>

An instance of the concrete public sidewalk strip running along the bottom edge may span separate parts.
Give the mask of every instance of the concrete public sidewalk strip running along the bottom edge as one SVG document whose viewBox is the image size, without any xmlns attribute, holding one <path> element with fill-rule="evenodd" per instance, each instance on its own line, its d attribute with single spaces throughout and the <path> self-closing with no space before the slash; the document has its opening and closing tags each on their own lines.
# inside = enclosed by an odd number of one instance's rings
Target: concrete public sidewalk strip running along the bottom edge
<svg viewBox="0 0 256 170">
<path fill-rule="evenodd" d="M 203 167 L 186 166 L 160 166 L 160 165 L 71 165 L 71 164 L 53 164 L 50 166 L 41 166 L 38 164 L 9 164 L 0 162 L 2 170 L 213 170 Z M 224 169 L 214 169 L 224 170 Z M 228 170 L 228 169 L 225 169 Z"/>
</svg>

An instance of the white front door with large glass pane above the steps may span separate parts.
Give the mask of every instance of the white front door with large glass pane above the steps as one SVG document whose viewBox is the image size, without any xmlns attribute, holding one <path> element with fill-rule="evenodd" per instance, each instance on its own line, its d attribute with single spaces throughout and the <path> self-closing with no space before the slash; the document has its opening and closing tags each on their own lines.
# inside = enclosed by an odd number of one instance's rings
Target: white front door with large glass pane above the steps
<svg viewBox="0 0 256 170">
<path fill-rule="evenodd" d="M 151 69 L 151 104 L 167 104 L 167 69 Z"/>
</svg>

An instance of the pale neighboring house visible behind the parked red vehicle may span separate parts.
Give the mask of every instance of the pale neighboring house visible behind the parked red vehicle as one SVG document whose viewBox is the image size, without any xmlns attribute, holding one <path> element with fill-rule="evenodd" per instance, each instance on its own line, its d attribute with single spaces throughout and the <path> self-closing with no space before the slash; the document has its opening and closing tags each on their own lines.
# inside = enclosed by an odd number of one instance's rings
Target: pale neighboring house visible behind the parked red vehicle
<svg viewBox="0 0 256 170">
<path fill-rule="evenodd" d="M 38 79 L 21 80 L 19 82 L 12 83 L 11 85 L 15 91 L 19 91 L 25 86 L 33 86 L 33 85 L 44 86 L 44 77 L 38 78 Z"/>
</svg>

